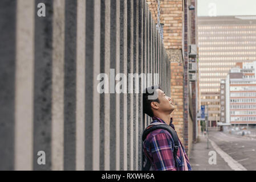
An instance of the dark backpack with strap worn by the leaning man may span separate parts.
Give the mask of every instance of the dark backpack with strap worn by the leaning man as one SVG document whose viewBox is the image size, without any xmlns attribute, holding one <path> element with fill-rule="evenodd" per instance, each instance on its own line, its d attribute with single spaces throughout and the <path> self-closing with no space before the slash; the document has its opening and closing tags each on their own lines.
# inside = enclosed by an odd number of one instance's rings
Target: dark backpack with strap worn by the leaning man
<svg viewBox="0 0 256 182">
<path fill-rule="evenodd" d="M 143 143 L 144 143 L 145 139 L 147 138 L 147 135 L 157 129 L 167 130 L 170 133 L 170 135 L 172 135 L 172 139 L 174 141 L 173 158 L 174 158 L 175 166 L 177 167 L 177 165 L 178 165 L 178 163 L 177 163 L 178 135 L 177 135 L 176 131 L 171 126 L 166 125 L 164 123 L 159 123 L 159 122 L 151 123 L 151 125 L 147 126 L 147 128 L 143 131 L 143 135 L 142 135 Z M 177 167 L 177 169 L 178 169 L 178 167 Z M 144 152 L 143 152 L 143 169 L 142 170 L 143 171 L 151 171 L 152 170 L 151 163 L 150 163 L 149 159 L 147 158 L 147 156 L 145 156 Z"/>
</svg>

